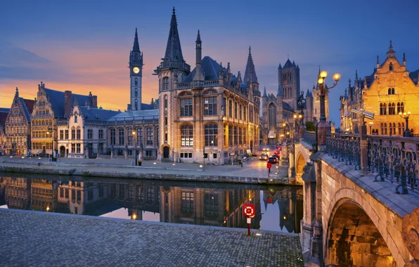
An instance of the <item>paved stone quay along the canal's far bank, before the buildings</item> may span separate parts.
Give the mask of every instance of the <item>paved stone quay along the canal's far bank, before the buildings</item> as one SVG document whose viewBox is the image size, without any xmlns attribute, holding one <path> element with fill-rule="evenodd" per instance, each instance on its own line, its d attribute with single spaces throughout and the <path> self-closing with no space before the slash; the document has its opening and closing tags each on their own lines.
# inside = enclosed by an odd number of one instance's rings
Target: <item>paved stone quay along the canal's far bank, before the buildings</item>
<svg viewBox="0 0 419 267">
<path fill-rule="evenodd" d="M 265 169 L 254 168 L 252 164 L 243 168 L 206 166 L 204 170 L 191 164 L 173 165 L 149 162 L 148 166 L 136 167 L 103 162 L 83 164 L 83 162 L 49 162 L 45 159 L 8 159 L 4 157 L 0 159 L 0 172 L 217 183 L 292 184 L 288 178 L 284 178 L 285 171 L 283 171 L 284 173 L 280 171 L 277 175 L 268 178 Z"/>
</svg>

